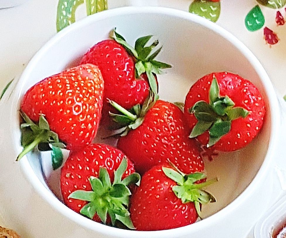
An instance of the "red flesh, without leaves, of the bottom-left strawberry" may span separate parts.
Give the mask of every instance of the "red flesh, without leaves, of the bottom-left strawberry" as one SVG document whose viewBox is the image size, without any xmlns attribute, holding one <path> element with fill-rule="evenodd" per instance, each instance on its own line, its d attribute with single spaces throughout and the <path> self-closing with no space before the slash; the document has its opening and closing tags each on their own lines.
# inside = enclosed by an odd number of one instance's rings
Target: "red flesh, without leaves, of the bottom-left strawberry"
<svg viewBox="0 0 286 238">
<path fill-rule="evenodd" d="M 81 150 L 71 152 L 61 169 L 61 193 L 64 203 L 73 211 L 80 213 L 81 208 L 88 202 L 73 198 L 68 199 L 68 196 L 76 190 L 91 191 L 88 178 L 90 176 L 98 177 L 100 167 L 107 169 L 110 180 L 113 182 L 114 171 L 119 167 L 123 157 L 124 153 L 120 150 L 103 144 L 90 144 Z M 128 160 L 127 169 L 122 178 L 134 172 L 134 166 Z M 101 222 L 97 214 L 93 220 Z"/>
</svg>

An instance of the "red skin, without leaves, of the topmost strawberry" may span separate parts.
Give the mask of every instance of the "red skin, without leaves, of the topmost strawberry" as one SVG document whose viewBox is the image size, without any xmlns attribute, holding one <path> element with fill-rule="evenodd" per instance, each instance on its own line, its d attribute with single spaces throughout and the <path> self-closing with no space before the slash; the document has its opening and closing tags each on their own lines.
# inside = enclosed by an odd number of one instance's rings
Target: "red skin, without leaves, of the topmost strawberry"
<svg viewBox="0 0 286 238">
<path fill-rule="evenodd" d="M 144 78 L 135 78 L 133 57 L 115 40 L 104 40 L 83 56 L 81 64 L 98 65 L 105 80 L 104 98 L 116 101 L 126 109 L 142 104 L 149 94 Z M 105 107 L 108 104 L 105 101 Z M 108 111 L 108 110 L 105 110 Z"/>
</svg>

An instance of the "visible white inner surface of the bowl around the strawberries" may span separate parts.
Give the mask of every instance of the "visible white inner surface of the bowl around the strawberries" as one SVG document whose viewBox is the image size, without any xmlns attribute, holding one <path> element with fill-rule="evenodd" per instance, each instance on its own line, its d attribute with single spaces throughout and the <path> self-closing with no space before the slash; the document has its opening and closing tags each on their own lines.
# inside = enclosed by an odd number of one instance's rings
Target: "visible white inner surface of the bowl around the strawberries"
<svg viewBox="0 0 286 238">
<path fill-rule="evenodd" d="M 263 83 L 249 59 L 223 35 L 213 31 L 213 24 L 205 24 L 205 20 L 198 17 L 192 19 L 152 11 L 125 11 L 122 14 L 117 11 L 117 14 L 102 13 L 88 17 L 53 38 L 30 62 L 21 79 L 19 96 L 43 78 L 76 65 L 91 46 L 108 38 L 110 30 L 117 27 L 117 31 L 131 45 L 138 37 L 149 34 L 153 34 L 163 45 L 158 60 L 172 64 L 172 69 L 158 76 L 161 99 L 184 102 L 191 85 L 203 75 L 230 71 L 253 82 L 261 90 L 268 108 Z M 238 152 L 221 153 L 212 162 L 205 160 L 208 177 L 217 176 L 219 182 L 208 188 L 217 202 L 203 206 L 203 216 L 210 216 L 230 204 L 251 183 L 268 149 L 271 133 L 269 114 L 261 133 L 249 146 Z M 52 172 L 49 155 L 42 154 L 42 160 L 35 153 L 27 157 L 32 172 L 60 198 L 60 171 Z"/>
</svg>

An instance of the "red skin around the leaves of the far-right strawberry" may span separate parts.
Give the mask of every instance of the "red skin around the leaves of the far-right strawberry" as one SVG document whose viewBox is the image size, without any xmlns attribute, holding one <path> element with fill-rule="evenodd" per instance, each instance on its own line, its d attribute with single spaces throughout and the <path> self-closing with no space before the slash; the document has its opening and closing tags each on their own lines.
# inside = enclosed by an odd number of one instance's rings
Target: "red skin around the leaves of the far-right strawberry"
<svg viewBox="0 0 286 238">
<path fill-rule="evenodd" d="M 262 95 L 254 84 L 239 75 L 220 72 L 212 73 L 199 79 L 186 96 L 184 114 L 188 122 L 189 132 L 197 123 L 197 119 L 191 113 L 191 108 L 197 101 L 209 102 L 209 90 L 215 75 L 220 95 L 229 96 L 236 107 L 242 107 L 249 111 L 246 118 L 238 118 L 231 122 L 230 132 L 211 147 L 212 150 L 234 151 L 248 145 L 260 131 L 266 113 Z M 198 136 L 197 139 L 206 145 L 209 140 L 208 132 Z"/>
</svg>

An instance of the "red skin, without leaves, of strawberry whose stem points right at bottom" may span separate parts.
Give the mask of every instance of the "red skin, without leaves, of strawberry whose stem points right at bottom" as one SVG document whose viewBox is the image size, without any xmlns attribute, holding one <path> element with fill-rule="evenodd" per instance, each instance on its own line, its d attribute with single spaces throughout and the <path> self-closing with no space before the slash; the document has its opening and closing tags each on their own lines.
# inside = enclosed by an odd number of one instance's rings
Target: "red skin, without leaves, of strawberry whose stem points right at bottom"
<svg viewBox="0 0 286 238">
<path fill-rule="evenodd" d="M 167 230 L 196 222 L 194 203 L 183 204 L 172 191 L 174 185 L 176 182 L 164 174 L 162 165 L 143 175 L 130 200 L 131 220 L 137 230 Z"/>
</svg>

